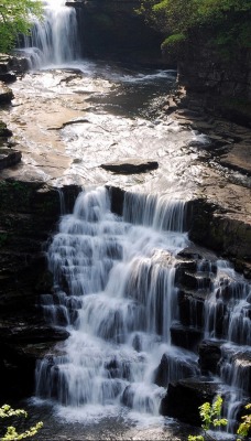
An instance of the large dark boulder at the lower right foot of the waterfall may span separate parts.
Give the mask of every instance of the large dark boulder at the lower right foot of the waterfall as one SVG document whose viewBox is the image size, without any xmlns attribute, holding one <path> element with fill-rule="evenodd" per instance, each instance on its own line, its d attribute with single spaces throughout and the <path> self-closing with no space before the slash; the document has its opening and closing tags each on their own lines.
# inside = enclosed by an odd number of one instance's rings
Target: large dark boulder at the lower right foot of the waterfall
<svg viewBox="0 0 251 441">
<path fill-rule="evenodd" d="M 200 426 L 198 407 L 205 401 L 212 402 L 218 387 L 218 384 L 204 377 L 171 383 L 161 402 L 160 412 L 193 426 Z"/>
</svg>

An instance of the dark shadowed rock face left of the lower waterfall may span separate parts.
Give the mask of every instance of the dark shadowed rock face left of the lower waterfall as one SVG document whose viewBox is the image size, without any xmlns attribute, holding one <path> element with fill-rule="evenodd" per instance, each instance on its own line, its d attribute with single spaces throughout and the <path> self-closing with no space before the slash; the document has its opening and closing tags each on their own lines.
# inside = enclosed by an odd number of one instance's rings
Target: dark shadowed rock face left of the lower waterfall
<svg viewBox="0 0 251 441">
<path fill-rule="evenodd" d="M 78 194 L 62 190 L 72 212 Z M 56 227 L 59 193 L 43 183 L 0 181 L 0 387 L 1 396 L 33 392 L 35 362 L 52 343 L 68 333 L 52 329 L 39 305 L 41 293 L 53 292 L 44 243 Z"/>
</svg>

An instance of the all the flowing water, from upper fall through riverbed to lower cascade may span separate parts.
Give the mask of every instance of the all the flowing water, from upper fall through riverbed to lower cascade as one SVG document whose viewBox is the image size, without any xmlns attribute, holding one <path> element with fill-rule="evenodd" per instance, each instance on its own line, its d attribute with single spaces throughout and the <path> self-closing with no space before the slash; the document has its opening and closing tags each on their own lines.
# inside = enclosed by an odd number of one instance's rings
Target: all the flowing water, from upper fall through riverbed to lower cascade
<svg viewBox="0 0 251 441">
<path fill-rule="evenodd" d="M 172 329 L 184 324 L 177 261 L 192 245 L 186 201 L 200 180 L 189 144 L 207 140 L 160 120 L 157 107 L 166 84 L 174 82 L 172 72 L 135 73 L 76 61 L 76 29 L 74 9 L 46 2 L 45 20 L 35 24 L 25 49 L 33 68 L 45 69 L 26 75 L 28 95 L 65 99 L 68 94 L 70 100 L 89 92 L 85 120 L 61 130 L 74 159 L 67 178 L 77 176 L 85 189 L 73 214 L 66 214 L 58 194 L 63 213 L 47 250 L 54 292 L 41 299 L 46 320 L 65 326 L 69 337 L 37 364 L 30 406 L 35 404 L 45 422 L 41 440 L 185 440 L 192 429 L 159 411 L 168 383 L 200 376 L 198 354 L 174 345 Z M 77 69 L 79 77 L 68 84 L 64 68 Z M 100 162 L 139 151 L 162 163 L 148 178 L 98 169 Z M 53 183 L 64 183 L 63 178 Z M 105 184 L 128 190 L 122 216 L 111 213 Z M 237 404 L 250 390 L 250 286 L 217 258 L 198 258 L 196 277 L 196 291 L 206 300 L 198 314 L 196 298 L 189 298 L 189 326 L 201 338 L 221 343 L 219 368 L 210 379 L 228 396 L 231 428 Z M 163 359 L 168 368 L 159 385 Z"/>
</svg>

